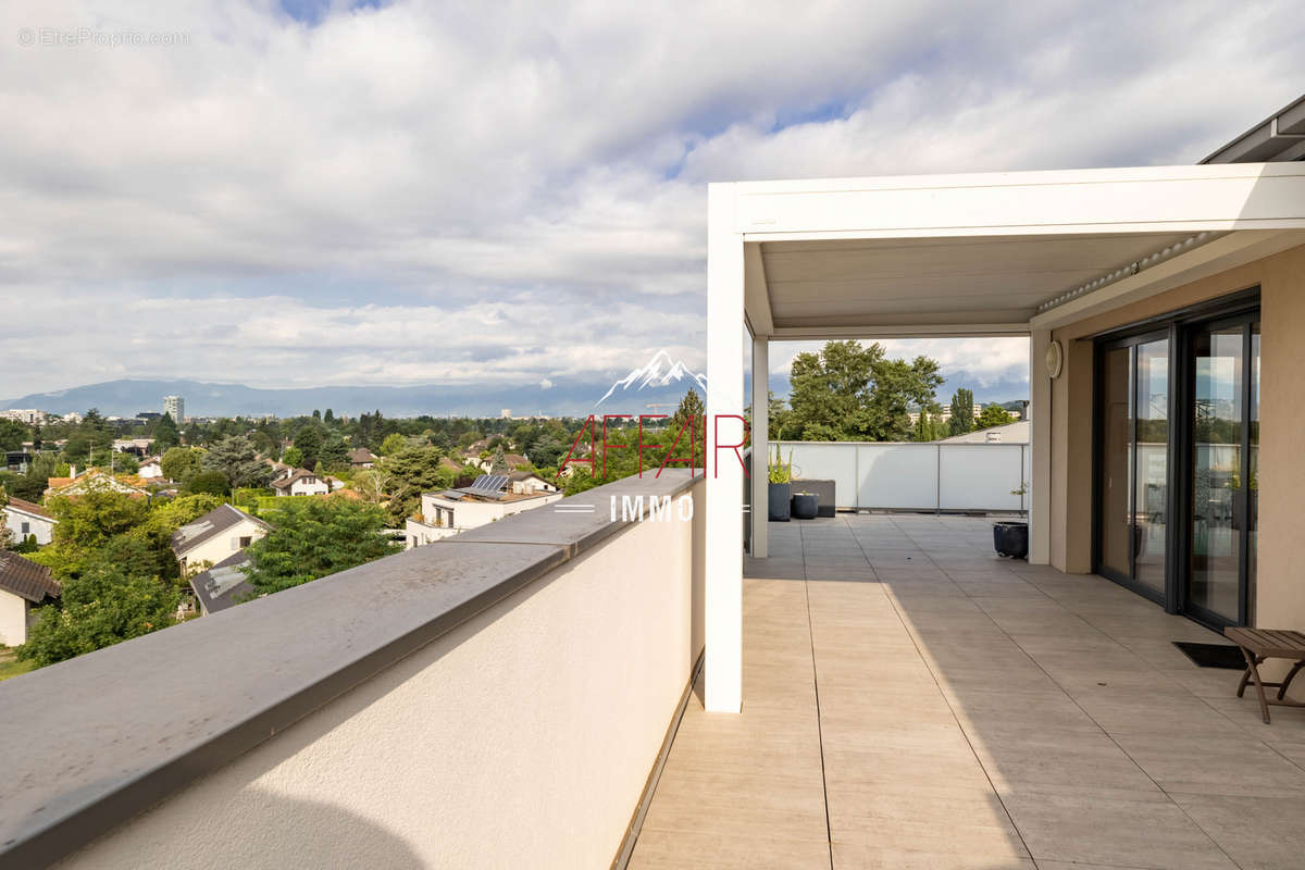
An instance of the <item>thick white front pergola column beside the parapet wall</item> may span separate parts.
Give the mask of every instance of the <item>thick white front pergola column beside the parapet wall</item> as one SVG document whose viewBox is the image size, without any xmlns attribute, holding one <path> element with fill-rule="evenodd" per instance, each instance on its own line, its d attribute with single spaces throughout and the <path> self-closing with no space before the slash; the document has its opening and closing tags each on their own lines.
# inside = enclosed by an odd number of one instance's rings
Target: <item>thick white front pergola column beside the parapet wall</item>
<svg viewBox="0 0 1305 870">
<path fill-rule="evenodd" d="M 709 712 L 743 707 L 744 254 L 735 185 L 707 187 L 706 698 Z M 741 453 L 741 451 L 740 451 Z"/>
</svg>

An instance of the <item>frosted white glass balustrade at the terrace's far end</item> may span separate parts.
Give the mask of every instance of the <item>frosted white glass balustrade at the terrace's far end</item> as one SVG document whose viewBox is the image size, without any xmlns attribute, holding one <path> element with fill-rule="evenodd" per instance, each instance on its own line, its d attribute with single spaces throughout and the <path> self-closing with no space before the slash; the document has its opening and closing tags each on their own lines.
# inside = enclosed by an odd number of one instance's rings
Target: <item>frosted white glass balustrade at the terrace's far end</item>
<svg viewBox="0 0 1305 870">
<path fill-rule="evenodd" d="M 799 480 L 833 480 L 839 509 L 1018 511 L 1026 443 L 779 442 Z"/>
</svg>

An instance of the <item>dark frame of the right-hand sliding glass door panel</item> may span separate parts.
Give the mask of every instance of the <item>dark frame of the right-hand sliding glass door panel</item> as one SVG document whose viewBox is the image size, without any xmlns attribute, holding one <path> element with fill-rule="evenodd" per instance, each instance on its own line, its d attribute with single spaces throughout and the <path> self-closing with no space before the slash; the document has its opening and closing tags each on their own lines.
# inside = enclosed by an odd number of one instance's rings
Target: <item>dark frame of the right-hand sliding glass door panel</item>
<svg viewBox="0 0 1305 870">
<path fill-rule="evenodd" d="M 1249 625 L 1251 614 L 1251 601 L 1250 601 L 1250 476 L 1251 476 L 1251 457 L 1250 457 L 1250 428 L 1251 428 L 1251 402 L 1253 402 L 1253 387 L 1255 386 L 1255 364 L 1251 356 L 1251 348 L 1254 347 L 1253 338 L 1253 325 L 1259 322 L 1259 300 L 1257 297 L 1254 307 L 1244 307 L 1241 310 L 1232 313 L 1223 313 L 1218 317 L 1207 317 L 1197 321 L 1190 321 L 1182 325 L 1180 335 L 1180 352 L 1184 367 L 1184 377 L 1180 381 L 1180 406 L 1184 425 L 1180 427 L 1180 441 L 1174 445 L 1174 453 L 1177 453 L 1178 480 L 1181 481 L 1174 494 L 1181 498 L 1181 510 L 1177 517 L 1181 520 L 1178 539 L 1176 543 L 1181 547 L 1178 549 L 1178 560 L 1181 561 L 1177 587 L 1174 588 L 1174 604 L 1176 613 L 1181 613 L 1202 625 L 1210 626 L 1212 629 L 1224 629 L 1232 625 Z M 1194 353 L 1195 337 L 1198 334 L 1208 334 L 1219 330 L 1225 330 L 1232 326 L 1241 327 L 1241 412 L 1242 412 L 1242 427 L 1241 427 L 1241 440 L 1238 441 L 1238 450 L 1241 455 L 1241 464 L 1245 467 L 1241 472 L 1244 485 L 1238 488 L 1237 498 L 1241 502 L 1241 528 L 1237 530 L 1237 617 L 1231 618 L 1221 613 L 1216 613 L 1208 608 L 1193 603 L 1190 599 L 1190 590 L 1188 587 L 1189 578 L 1191 577 L 1191 522 L 1195 514 L 1193 505 L 1193 483 L 1195 480 L 1195 453 L 1193 450 L 1195 441 L 1195 394 L 1197 394 L 1197 357 Z M 1235 507 L 1236 510 L 1236 507 Z"/>
</svg>

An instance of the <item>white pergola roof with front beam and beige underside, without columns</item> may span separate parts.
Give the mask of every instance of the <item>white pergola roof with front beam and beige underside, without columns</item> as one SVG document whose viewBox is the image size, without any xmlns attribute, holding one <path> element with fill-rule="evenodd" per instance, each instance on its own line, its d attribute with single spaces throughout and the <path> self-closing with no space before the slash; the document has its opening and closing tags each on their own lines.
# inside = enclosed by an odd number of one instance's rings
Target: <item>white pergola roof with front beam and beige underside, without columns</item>
<svg viewBox="0 0 1305 870">
<path fill-rule="evenodd" d="M 1305 243 L 1305 166 L 745 183 L 753 327 L 1027 333 Z"/>
</svg>

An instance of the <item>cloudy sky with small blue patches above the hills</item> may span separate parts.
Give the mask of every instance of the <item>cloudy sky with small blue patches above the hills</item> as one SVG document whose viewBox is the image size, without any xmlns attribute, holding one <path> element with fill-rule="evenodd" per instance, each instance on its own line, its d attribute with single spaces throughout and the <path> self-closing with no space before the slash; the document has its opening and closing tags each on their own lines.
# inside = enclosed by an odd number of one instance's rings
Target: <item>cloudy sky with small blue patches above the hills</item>
<svg viewBox="0 0 1305 870">
<path fill-rule="evenodd" d="M 706 181 L 1191 163 L 1302 44 L 1293 1 L 7 0 L 0 395 L 701 368 Z"/>
</svg>

